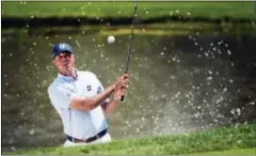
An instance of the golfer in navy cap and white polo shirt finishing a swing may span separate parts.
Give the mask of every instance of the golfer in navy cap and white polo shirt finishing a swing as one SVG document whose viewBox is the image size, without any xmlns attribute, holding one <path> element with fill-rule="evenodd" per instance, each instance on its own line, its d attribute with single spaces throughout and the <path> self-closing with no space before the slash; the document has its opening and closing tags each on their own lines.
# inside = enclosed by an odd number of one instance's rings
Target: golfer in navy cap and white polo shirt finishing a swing
<svg viewBox="0 0 256 156">
<path fill-rule="evenodd" d="M 62 119 L 67 140 L 64 147 L 111 142 L 104 113 L 113 113 L 128 88 L 128 75 L 104 88 L 91 71 L 74 67 L 72 47 L 57 43 L 53 49 L 58 74 L 48 87 L 48 95 Z M 110 98 L 111 96 L 111 98 Z"/>
</svg>

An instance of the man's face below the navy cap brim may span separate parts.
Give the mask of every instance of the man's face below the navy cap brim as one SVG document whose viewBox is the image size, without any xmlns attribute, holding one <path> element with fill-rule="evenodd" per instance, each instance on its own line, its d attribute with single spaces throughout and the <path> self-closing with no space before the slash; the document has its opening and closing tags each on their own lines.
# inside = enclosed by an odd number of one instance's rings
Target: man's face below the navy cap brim
<svg viewBox="0 0 256 156">
<path fill-rule="evenodd" d="M 62 52 L 59 55 L 56 55 L 54 64 L 56 65 L 57 70 L 67 72 L 73 68 L 74 56 L 69 52 Z"/>
</svg>

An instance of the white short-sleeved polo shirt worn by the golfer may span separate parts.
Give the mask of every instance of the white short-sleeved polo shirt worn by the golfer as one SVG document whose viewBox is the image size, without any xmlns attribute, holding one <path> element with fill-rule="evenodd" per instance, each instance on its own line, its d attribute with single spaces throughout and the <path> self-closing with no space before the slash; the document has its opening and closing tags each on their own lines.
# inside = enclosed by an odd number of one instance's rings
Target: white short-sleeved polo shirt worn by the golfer
<svg viewBox="0 0 256 156">
<path fill-rule="evenodd" d="M 64 133 L 78 139 L 87 139 L 107 128 L 102 106 L 91 111 L 70 108 L 74 97 L 92 97 L 104 87 L 96 75 L 90 71 L 76 70 L 76 79 L 58 73 L 55 81 L 48 87 L 50 101 L 62 119 Z"/>
</svg>

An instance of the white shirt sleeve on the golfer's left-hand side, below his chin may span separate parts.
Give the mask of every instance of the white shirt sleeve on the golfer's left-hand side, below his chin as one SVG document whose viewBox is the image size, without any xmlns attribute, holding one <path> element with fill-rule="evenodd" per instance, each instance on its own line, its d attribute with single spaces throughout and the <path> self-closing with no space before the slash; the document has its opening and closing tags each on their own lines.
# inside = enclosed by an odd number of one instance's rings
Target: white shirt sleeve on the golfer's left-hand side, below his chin
<svg viewBox="0 0 256 156">
<path fill-rule="evenodd" d="M 62 109 L 69 109 L 72 99 L 78 97 L 74 89 L 69 89 L 62 84 L 48 88 L 50 101 Z"/>
</svg>

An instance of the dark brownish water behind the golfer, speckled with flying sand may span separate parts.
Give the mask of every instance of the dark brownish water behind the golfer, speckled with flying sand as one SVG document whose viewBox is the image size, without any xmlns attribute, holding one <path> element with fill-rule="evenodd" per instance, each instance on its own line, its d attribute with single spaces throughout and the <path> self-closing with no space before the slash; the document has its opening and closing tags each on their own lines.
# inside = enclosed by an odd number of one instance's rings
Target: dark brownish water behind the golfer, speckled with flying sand
<svg viewBox="0 0 256 156">
<path fill-rule="evenodd" d="M 47 87 L 56 77 L 52 46 L 71 43 L 79 70 L 104 86 L 125 69 L 128 36 L 96 33 L 2 36 L 2 148 L 61 145 L 62 123 Z M 256 123 L 256 35 L 136 35 L 126 101 L 108 116 L 114 139 Z"/>
</svg>

